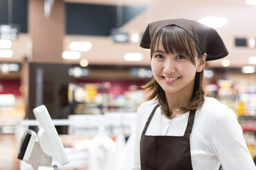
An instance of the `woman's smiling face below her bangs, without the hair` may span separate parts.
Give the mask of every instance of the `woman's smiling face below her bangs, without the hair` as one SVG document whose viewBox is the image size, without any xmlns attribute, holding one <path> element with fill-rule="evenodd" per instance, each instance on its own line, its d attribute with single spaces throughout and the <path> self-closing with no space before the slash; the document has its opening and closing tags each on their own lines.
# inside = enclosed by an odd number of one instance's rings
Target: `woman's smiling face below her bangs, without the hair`
<svg viewBox="0 0 256 170">
<path fill-rule="evenodd" d="M 154 50 L 151 67 L 154 78 L 167 94 L 190 94 L 194 89 L 196 71 L 201 72 L 199 59 L 194 65 L 189 56 L 178 53 L 165 53 L 163 45 Z"/>
</svg>

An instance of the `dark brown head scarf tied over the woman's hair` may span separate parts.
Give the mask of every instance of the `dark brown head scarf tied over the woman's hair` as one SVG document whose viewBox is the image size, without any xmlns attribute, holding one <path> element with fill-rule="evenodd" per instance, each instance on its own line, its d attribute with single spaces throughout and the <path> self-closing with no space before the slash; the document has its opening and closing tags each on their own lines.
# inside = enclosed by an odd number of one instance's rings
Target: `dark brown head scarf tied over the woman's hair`
<svg viewBox="0 0 256 170">
<path fill-rule="evenodd" d="M 207 54 L 206 61 L 221 59 L 228 55 L 228 50 L 216 30 L 188 19 L 168 19 L 149 23 L 143 34 L 140 47 L 149 49 L 156 32 L 167 25 L 176 25 L 188 32 L 199 45 L 201 52 Z"/>
</svg>

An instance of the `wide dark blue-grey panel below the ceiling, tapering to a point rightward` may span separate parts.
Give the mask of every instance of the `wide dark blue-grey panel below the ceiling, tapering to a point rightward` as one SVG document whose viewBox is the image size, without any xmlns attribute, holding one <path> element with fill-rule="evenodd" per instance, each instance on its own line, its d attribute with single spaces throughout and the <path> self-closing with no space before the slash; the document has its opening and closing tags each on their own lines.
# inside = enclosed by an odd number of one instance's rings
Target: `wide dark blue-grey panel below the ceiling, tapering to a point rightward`
<svg viewBox="0 0 256 170">
<path fill-rule="evenodd" d="M 122 25 L 143 12 L 144 7 L 123 6 Z M 117 28 L 116 6 L 66 3 L 66 34 L 109 36 Z"/>
</svg>

